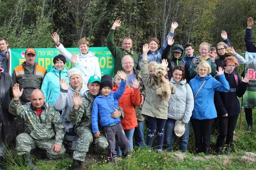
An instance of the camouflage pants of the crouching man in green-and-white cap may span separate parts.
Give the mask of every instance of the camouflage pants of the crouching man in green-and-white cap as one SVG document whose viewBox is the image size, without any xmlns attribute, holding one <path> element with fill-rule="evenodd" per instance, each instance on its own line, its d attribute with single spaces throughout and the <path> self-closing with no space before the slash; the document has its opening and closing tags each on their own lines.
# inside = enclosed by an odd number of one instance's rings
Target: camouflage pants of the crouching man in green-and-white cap
<svg viewBox="0 0 256 170">
<path fill-rule="evenodd" d="M 86 126 L 79 126 L 76 128 L 76 134 L 79 137 L 76 149 L 73 153 L 73 158 L 84 162 L 86 152 L 89 151 L 90 144 L 95 152 L 101 153 L 108 148 L 108 141 L 102 132 L 99 138 L 95 138 L 92 130 Z"/>
</svg>

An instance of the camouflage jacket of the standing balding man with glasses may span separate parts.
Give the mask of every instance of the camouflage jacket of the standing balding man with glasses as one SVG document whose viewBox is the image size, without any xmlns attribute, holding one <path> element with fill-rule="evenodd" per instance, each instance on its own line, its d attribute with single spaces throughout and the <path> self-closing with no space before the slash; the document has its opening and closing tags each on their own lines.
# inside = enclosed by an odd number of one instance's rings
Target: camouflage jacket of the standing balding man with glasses
<svg viewBox="0 0 256 170">
<path fill-rule="evenodd" d="M 140 71 L 133 69 L 134 73 L 136 74 L 136 79 L 138 79 L 140 81 L 140 94 L 142 94 L 144 96 L 144 100 L 146 98 L 146 89 L 145 86 L 143 85 L 143 81 L 141 78 L 141 74 Z M 135 111 L 136 111 L 136 116 L 137 116 L 137 120 L 138 121 L 144 121 L 144 117 L 140 114 L 141 109 L 142 109 L 143 104 L 141 104 L 140 106 L 135 106 Z"/>
</svg>

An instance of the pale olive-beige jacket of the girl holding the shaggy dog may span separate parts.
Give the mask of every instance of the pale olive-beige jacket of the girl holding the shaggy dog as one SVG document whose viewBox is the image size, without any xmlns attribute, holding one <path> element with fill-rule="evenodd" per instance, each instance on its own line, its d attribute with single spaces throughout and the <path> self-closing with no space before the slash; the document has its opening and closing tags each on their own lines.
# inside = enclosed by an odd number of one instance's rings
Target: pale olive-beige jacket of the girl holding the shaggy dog
<svg viewBox="0 0 256 170">
<path fill-rule="evenodd" d="M 167 119 L 167 111 L 169 106 L 167 100 L 160 100 L 156 95 L 156 89 L 158 85 L 154 85 L 152 88 L 148 86 L 150 84 L 148 60 L 141 60 L 140 72 L 147 94 L 141 110 L 141 114 L 159 119 Z M 175 92 L 176 86 L 171 83 L 171 93 L 174 94 Z"/>
</svg>

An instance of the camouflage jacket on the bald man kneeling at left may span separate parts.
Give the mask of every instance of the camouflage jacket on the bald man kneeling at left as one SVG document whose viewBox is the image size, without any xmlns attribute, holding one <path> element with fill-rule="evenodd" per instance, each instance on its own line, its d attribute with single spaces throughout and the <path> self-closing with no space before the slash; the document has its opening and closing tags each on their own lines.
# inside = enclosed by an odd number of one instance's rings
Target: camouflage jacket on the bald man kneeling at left
<svg viewBox="0 0 256 170">
<path fill-rule="evenodd" d="M 54 137 L 54 144 L 62 144 L 65 129 L 60 113 L 47 101 L 44 102 L 44 109 L 40 116 L 32 109 L 31 102 L 20 106 L 20 100 L 13 99 L 9 112 L 24 121 L 24 133 L 28 133 L 36 142 L 47 142 Z"/>
</svg>

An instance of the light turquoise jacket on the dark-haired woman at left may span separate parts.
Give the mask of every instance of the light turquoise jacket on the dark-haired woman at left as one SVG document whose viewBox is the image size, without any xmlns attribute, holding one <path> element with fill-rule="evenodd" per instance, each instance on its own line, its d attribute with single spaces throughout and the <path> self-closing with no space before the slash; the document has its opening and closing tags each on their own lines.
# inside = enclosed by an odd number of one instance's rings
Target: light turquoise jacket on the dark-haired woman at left
<svg viewBox="0 0 256 170">
<path fill-rule="evenodd" d="M 66 81 L 69 82 L 67 72 L 68 68 L 66 67 L 63 67 L 63 70 L 60 71 L 52 66 L 51 71 L 44 77 L 41 90 L 44 93 L 45 100 L 52 105 L 60 94 L 60 79 L 66 78 Z"/>
</svg>

